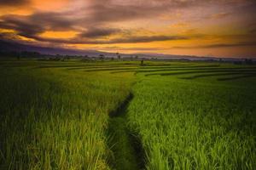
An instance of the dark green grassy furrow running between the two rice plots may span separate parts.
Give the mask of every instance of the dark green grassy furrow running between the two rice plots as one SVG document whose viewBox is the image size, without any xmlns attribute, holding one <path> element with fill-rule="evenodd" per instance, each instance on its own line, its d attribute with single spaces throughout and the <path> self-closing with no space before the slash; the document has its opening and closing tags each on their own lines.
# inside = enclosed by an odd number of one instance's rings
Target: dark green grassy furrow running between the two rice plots
<svg viewBox="0 0 256 170">
<path fill-rule="evenodd" d="M 108 135 L 111 137 L 108 146 L 113 155 L 110 156 L 110 166 L 117 170 L 144 169 L 144 151 L 136 133 L 127 128 L 126 110 L 133 98 L 132 94 L 119 105 L 116 111 L 110 113 Z"/>
</svg>

